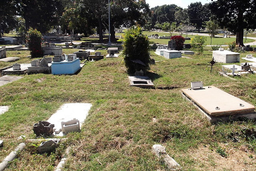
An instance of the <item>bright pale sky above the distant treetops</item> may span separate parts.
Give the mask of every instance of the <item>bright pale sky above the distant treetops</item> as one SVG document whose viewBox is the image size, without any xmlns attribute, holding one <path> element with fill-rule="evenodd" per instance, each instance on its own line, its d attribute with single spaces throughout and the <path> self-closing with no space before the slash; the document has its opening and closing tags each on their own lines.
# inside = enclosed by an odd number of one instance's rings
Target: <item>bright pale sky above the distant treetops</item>
<svg viewBox="0 0 256 171">
<path fill-rule="evenodd" d="M 180 6 L 181 8 L 188 8 L 188 5 L 190 3 L 194 2 L 201 2 L 203 5 L 206 3 L 212 2 L 211 0 L 146 0 L 146 3 L 149 4 L 150 8 L 153 8 L 155 6 L 162 6 L 162 5 L 170 5 L 170 4 L 176 4 L 177 6 Z"/>
</svg>

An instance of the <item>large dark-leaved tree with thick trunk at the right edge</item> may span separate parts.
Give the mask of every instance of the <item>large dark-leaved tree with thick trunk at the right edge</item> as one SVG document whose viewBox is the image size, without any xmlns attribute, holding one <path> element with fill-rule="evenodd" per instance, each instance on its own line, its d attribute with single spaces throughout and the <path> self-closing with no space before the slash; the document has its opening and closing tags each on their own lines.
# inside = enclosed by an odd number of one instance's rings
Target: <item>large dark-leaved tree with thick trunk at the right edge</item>
<svg viewBox="0 0 256 171">
<path fill-rule="evenodd" d="M 236 33 L 236 45 L 244 46 L 244 29 L 256 28 L 256 0 L 217 0 L 210 10 L 220 27 Z"/>
</svg>

